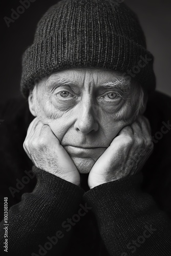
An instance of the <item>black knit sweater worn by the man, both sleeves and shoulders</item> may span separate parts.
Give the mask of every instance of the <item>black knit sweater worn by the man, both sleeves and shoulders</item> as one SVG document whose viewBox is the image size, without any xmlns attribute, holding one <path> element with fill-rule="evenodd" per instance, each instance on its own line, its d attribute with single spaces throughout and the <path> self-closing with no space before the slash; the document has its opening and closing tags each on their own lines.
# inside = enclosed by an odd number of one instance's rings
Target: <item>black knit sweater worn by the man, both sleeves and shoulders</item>
<svg viewBox="0 0 171 256">
<path fill-rule="evenodd" d="M 28 102 L 19 98 L 3 104 L 1 255 L 171 255 L 170 113 L 171 99 L 154 93 L 145 113 L 154 152 L 142 172 L 89 190 L 88 175 L 81 175 L 78 187 L 33 166 L 33 178 L 23 149 L 34 119 Z M 4 197 L 10 208 L 8 253 Z"/>
</svg>

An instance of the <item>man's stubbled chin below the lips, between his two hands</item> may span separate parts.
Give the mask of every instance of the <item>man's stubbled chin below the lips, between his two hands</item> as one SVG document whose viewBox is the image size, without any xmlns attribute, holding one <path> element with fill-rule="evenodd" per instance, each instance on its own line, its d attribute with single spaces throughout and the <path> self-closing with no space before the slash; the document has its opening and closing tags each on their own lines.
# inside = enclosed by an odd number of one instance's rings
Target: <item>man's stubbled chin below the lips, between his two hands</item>
<svg viewBox="0 0 171 256">
<path fill-rule="evenodd" d="M 90 173 L 91 168 L 95 164 L 95 161 L 90 157 L 86 157 L 86 158 L 71 157 L 71 158 L 80 174 Z"/>
</svg>

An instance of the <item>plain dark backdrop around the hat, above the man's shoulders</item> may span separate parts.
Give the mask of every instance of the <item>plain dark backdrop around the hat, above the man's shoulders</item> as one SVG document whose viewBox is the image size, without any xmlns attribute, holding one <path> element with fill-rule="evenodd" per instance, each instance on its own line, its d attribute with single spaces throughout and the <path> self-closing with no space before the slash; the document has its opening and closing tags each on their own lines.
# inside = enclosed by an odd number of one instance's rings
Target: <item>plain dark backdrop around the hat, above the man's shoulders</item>
<svg viewBox="0 0 171 256">
<path fill-rule="evenodd" d="M 4 16 L 11 17 L 11 9 L 17 9 L 19 0 L 3 1 L 1 6 L 1 93 L 0 101 L 18 96 L 22 72 L 22 54 L 32 44 L 35 27 L 40 17 L 57 0 L 36 0 L 30 3 L 23 14 L 10 23 L 8 28 Z M 147 39 L 147 48 L 155 56 L 157 90 L 171 96 L 171 1 L 170 0 L 125 0 L 139 16 Z M 2 5 L 1 4 L 1 5 Z"/>
</svg>

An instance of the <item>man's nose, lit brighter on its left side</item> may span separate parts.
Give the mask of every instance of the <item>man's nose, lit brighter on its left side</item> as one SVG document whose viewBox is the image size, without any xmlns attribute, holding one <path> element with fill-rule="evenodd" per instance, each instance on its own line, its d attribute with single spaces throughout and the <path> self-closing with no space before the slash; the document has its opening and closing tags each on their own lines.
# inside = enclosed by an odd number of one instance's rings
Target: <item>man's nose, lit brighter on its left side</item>
<svg viewBox="0 0 171 256">
<path fill-rule="evenodd" d="M 97 107 L 91 102 L 82 102 L 77 113 L 77 120 L 74 124 L 76 130 L 83 134 L 96 132 L 99 129 Z"/>
</svg>

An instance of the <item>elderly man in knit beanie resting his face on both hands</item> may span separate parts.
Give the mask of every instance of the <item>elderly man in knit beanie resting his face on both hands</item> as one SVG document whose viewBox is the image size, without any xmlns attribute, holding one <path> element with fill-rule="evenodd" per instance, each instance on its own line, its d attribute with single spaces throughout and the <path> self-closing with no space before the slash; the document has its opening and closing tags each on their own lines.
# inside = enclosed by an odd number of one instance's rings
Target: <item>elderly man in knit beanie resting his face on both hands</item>
<svg viewBox="0 0 171 256">
<path fill-rule="evenodd" d="M 63 0 L 38 23 L 29 106 L 1 114 L 3 255 L 171 255 L 170 98 L 121 2 Z"/>
</svg>

